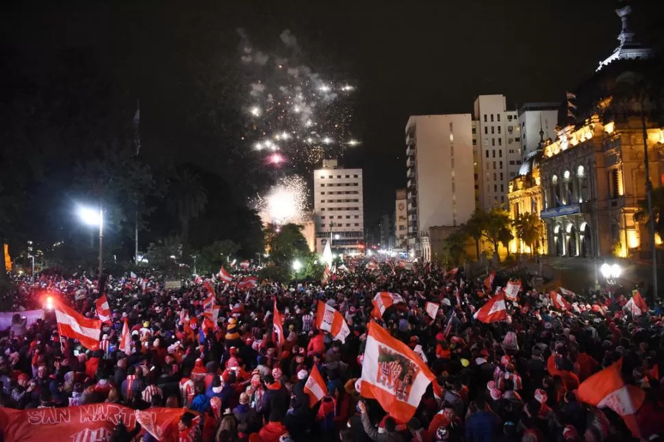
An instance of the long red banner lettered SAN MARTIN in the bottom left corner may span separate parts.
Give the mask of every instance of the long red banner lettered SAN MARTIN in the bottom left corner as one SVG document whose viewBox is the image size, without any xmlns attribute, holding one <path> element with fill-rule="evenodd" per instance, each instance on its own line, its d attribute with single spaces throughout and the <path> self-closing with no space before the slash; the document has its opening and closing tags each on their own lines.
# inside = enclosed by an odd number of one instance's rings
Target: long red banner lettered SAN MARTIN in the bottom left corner
<svg viewBox="0 0 664 442">
<path fill-rule="evenodd" d="M 186 408 L 148 408 L 144 411 L 116 404 L 91 404 L 64 408 L 14 410 L 0 407 L 3 442 L 103 442 L 109 441 L 120 422 L 159 441 L 177 442 L 177 423 Z"/>
</svg>

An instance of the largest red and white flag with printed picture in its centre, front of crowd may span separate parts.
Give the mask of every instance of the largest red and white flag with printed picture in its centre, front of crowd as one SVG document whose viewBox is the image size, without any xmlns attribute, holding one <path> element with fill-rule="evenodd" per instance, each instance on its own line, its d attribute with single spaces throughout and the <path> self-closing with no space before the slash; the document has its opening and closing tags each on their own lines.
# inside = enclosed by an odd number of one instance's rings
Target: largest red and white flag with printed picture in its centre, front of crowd
<svg viewBox="0 0 664 442">
<path fill-rule="evenodd" d="M 434 379 L 429 367 L 405 343 L 378 324 L 369 324 L 361 395 L 373 396 L 392 417 L 407 422 Z"/>
</svg>

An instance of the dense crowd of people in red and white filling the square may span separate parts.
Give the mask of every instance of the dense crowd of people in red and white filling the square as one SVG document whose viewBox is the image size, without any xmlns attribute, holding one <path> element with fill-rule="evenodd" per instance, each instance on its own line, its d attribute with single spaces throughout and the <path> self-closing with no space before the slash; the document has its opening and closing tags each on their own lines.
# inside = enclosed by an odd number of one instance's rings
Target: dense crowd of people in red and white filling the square
<svg viewBox="0 0 664 442">
<path fill-rule="evenodd" d="M 473 313 L 494 296 L 499 278 L 487 287 L 463 269 L 368 269 L 361 260 L 345 269 L 325 285 L 262 281 L 251 289 L 219 278 L 196 278 L 178 289 L 165 289 L 149 274 L 111 278 L 105 285 L 111 317 L 94 351 L 58 335 L 53 313 L 26 324 L 19 312 L 1 330 L 0 405 L 184 407 L 181 441 L 629 441 L 633 428 L 611 406 L 590 406 L 576 395 L 584 380 L 622 361 L 626 385 L 646 391 L 639 436 L 659 440 L 659 307 L 634 316 L 623 309 L 628 294 L 587 291 L 567 292 L 572 308 L 557 309 L 548 293 L 524 280 L 517 300 L 507 302 L 507 320 L 485 324 Z M 203 315 L 210 287 L 219 306 L 212 327 Z M 41 307 L 44 291 L 95 317 L 101 294 L 94 278 L 25 282 L 16 307 Z M 403 302 L 376 317 L 372 299 L 379 291 Z M 275 302 L 283 317 L 281 345 L 272 327 Z M 316 327 L 317 302 L 344 316 L 350 329 L 344 342 Z M 433 317 L 426 302 L 439 306 Z M 129 352 L 119 349 L 125 319 Z M 406 421 L 360 394 L 370 322 L 417 349 L 435 375 Z M 305 385 L 314 367 L 327 395 L 312 404 Z M 139 431 L 120 425 L 112 440 L 157 440 Z"/>
</svg>

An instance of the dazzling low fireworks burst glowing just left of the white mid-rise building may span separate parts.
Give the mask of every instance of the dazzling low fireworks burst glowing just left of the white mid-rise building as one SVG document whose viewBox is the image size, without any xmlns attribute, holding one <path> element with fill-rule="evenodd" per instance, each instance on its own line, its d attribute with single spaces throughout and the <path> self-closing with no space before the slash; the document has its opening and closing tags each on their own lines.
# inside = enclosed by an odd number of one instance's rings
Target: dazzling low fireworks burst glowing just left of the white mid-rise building
<svg viewBox="0 0 664 442">
<path fill-rule="evenodd" d="M 264 196 L 258 196 L 255 205 L 264 224 L 279 226 L 307 220 L 309 190 L 302 177 L 284 177 Z"/>
</svg>

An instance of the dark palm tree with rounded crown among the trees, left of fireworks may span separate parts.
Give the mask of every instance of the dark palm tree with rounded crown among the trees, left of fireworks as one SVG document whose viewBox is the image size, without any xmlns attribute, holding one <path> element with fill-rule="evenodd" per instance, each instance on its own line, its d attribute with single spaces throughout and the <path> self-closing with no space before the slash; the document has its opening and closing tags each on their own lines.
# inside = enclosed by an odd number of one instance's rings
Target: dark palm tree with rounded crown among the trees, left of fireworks
<svg viewBox="0 0 664 442">
<path fill-rule="evenodd" d="M 176 172 L 169 187 L 168 208 L 180 222 L 182 244 L 186 247 L 189 240 L 189 222 L 205 211 L 207 191 L 199 174 L 190 169 Z"/>
</svg>

